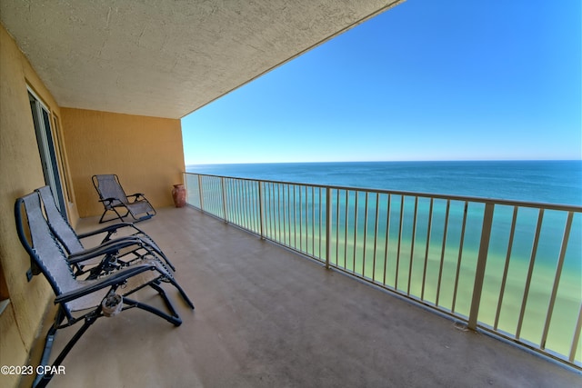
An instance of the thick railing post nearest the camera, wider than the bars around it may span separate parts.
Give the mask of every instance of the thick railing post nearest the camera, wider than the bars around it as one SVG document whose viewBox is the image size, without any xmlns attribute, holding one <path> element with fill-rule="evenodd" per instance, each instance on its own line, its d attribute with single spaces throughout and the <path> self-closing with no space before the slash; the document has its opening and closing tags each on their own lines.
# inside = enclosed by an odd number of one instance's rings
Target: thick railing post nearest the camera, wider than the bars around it
<svg viewBox="0 0 582 388">
<path fill-rule="evenodd" d="M 481 242 L 479 243 L 479 255 L 477 257 L 477 268 L 475 271 L 475 284 L 473 286 L 473 297 L 471 299 L 471 312 L 467 328 L 477 330 L 477 315 L 481 303 L 481 292 L 483 291 L 483 280 L 485 278 L 485 267 L 487 264 L 487 252 L 489 250 L 489 240 L 491 238 L 491 225 L 493 224 L 493 211 L 495 204 L 487 202 L 485 204 L 485 214 L 483 215 L 483 228 L 481 229 Z"/>
</svg>

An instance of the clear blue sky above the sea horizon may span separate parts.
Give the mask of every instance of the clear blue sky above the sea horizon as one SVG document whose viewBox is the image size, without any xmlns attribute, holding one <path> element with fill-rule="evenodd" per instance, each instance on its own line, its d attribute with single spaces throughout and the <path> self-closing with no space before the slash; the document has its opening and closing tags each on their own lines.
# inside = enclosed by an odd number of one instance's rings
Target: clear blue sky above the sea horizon
<svg viewBox="0 0 582 388">
<path fill-rule="evenodd" d="M 408 0 L 184 117 L 185 162 L 581 159 L 580 6 Z"/>
</svg>

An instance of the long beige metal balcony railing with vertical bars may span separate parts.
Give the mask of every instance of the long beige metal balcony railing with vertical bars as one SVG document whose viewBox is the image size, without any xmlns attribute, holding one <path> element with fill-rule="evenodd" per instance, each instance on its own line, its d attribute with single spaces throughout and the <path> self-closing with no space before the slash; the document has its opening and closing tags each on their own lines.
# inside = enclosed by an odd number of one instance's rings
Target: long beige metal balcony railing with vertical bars
<svg viewBox="0 0 582 388">
<path fill-rule="evenodd" d="M 187 203 L 581 368 L 582 206 L 186 173 Z"/>
</svg>

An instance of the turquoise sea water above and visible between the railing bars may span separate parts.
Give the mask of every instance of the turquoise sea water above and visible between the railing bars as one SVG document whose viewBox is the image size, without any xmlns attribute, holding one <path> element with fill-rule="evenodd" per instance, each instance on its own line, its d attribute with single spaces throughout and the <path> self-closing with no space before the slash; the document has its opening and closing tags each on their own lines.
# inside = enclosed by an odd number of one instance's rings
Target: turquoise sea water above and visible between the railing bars
<svg viewBox="0 0 582 388">
<path fill-rule="evenodd" d="M 217 164 L 188 166 L 187 171 L 302 184 L 582 204 L 581 161 Z M 308 189 L 299 194 L 304 189 L 298 187 L 304 186 L 265 188 L 266 198 L 270 198 L 266 204 L 266 234 L 322 257 L 321 246 L 323 243 L 325 250 L 326 244 L 319 237 L 325 229 L 318 215 L 319 192 L 310 196 Z M 248 189 L 243 192 L 248 193 Z M 214 195 L 222 198 L 221 194 Z M 287 205 L 292 201 L 301 203 L 297 205 L 301 215 L 289 210 Z M 364 193 L 334 190 L 332 202 L 332 264 L 447 311 L 468 315 L 484 204 L 468 204 L 462 236 L 462 201 L 451 202 L 447 213 L 445 200 L 435 200 L 431 210 L 427 198 L 418 198 L 415 203 L 414 196 L 379 194 L 376 198 L 371 194 L 367 216 Z M 567 357 L 582 302 L 582 215 L 573 218 L 561 276 L 555 283 L 567 213 L 547 210 L 540 214 L 537 209 L 520 207 L 510 247 L 513 211 L 513 206 L 506 205 L 495 209 L 478 320 L 542 347 L 551 295 L 555 293 L 546 348 Z M 539 240 L 535 245 L 538 220 Z M 254 220 L 253 225 L 257 224 Z M 300 231 L 302 237 L 297 242 Z M 523 303 L 524 295 L 527 303 Z M 577 363 L 580 357 L 578 350 Z"/>
</svg>

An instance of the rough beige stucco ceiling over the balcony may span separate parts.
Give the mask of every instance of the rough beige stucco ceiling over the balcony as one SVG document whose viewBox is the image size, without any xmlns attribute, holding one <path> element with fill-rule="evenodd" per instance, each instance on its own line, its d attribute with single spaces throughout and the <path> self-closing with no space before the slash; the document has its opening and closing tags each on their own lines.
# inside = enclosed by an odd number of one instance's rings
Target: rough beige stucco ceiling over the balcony
<svg viewBox="0 0 582 388">
<path fill-rule="evenodd" d="M 403 0 L 2 0 L 64 107 L 181 118 Z"/>
</svg>

